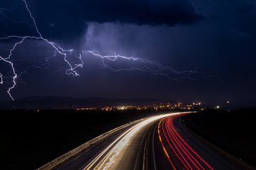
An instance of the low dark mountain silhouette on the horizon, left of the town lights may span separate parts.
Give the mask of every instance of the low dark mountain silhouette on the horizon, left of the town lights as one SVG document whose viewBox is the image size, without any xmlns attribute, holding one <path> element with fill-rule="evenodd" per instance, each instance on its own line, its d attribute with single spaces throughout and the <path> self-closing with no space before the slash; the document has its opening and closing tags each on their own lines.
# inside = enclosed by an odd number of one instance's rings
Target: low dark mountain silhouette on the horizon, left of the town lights
<svg viewBox="0 0 256 170">
<path fill-rule="evenodd" d="M 121 105 L 142 105 L 148 103 L 160 103 L 159 98 L 73 98 L 69 96 L 28 96 L 16 101 L 1 101 L 0 109 L 68 109 L 85 107 L 104 107 Z"/>
</svg>

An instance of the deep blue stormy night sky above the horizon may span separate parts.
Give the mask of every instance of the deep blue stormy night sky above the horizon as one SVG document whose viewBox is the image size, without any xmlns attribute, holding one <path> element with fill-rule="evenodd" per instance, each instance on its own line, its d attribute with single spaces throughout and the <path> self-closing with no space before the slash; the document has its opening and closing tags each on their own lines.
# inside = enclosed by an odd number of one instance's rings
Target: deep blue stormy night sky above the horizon
<svg viewBox="0 0 256 170">
<path fill-rule="evenodd" d="M 84 63 L 83 67 L 70 71 L 64 55 L 40 38 L 26 38 L 11 50 L 21 38 L 10 35 L 40 36 L 26 3 L 42 37 L 59 50 L 72 49 L 66 60 L 73 68 Z M 13 63 L 14 99 L 171 98 L 256 105 L 254 0 L 26 3 L 0 2 L 0 101 L 11 100 L 7 91 L 13 86 Z M 102 59 L 89 51 L 140 60 Z M 162 64 L 162 69 L 146 60 Z"/>
</svg>

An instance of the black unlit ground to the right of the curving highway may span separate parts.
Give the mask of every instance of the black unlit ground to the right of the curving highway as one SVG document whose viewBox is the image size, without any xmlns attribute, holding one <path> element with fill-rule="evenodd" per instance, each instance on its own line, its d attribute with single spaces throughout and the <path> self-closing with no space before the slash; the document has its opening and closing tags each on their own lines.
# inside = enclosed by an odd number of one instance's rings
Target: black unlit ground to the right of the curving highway
<svg viewBox="0 0 256 170">
<path fill-rule="evenodd" d="M 204 139 L 256 166 L 256 110 L 191 113 L 184 124 Z"/>
</svg>

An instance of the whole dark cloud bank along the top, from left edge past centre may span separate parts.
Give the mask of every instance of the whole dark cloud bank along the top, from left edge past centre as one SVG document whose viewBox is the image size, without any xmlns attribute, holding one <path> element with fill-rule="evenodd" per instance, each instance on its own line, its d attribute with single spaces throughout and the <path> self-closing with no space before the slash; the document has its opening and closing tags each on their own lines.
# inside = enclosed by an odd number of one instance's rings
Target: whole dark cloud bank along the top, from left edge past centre
<svg viewBox="0 0 256 170">
<path fill-rule="evenodd" d="M 202 18 L 194 11 L 188 0 L 27 0 L 27 3 L 40 32 L 50 40 L 61 42 L 64 47 L 79 43 L 81 35 L 87 31 L 88 22 L 174 26 L 195 23 Z M 13 8 L 11 12 L 1 10 L 6 16 L 10 13 L 12 15 L 9 18 L 0 15 L 1 19 L 6 21 L 5 25 L 1 26 L 1 35 L 3 33 L 36 34 L 33 26 L 28 24 L 33 25 L 33 21 L 29 18 L 23 1 L 12 0 L 1 2 L 0 5 L 4 8 Z M 18 23 L 13 23 L 11 20 Z"/>
</svg>

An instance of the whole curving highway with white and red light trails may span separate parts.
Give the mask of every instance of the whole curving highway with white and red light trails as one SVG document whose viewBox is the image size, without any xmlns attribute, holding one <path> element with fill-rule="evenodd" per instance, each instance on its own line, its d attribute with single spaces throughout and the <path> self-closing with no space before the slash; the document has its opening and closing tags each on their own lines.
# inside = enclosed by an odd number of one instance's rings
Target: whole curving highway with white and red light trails
<svg viewBox="0 0 256 170">
<path fill-rule="evenodd" d="M 244 169 L 191 135 L 181 123 L 183 114 L 124 125 L 40 169 Z"/>
</svg>

